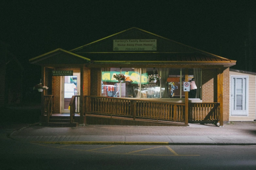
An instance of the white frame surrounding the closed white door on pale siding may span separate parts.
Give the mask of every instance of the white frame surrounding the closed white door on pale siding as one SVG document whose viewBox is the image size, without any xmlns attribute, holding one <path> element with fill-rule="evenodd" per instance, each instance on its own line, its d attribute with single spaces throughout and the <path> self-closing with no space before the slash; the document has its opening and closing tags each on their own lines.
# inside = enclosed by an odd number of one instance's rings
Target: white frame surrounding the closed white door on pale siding
<svg viewBox="0 0 256 170">
<path fill-rule="evenodd" d="M 239 111 L 237 111 L 238 113 L 235 113 L 233 110 L 233 99 L 232 99 L 232 79 L 233 78 L 246 78 L 246 89 L 245 89 L 245 114 L 239 114 Z M 241 76 L 241 75 L 230 75 L 230 116 L 248 116 L 248 109 L 249 109 L 249 76 Z"/>
</svg>

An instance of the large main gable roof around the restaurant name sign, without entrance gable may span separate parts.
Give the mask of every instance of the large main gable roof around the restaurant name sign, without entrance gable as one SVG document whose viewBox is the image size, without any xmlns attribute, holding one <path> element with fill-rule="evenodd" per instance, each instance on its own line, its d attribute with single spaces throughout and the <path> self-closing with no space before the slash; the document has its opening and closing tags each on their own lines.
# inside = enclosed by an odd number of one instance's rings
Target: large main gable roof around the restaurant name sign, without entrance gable
<svg viewBox="0 0 256 170">
<path fill-rule="evenodd" d="M 113 40 L 120 39 L 156 39 L 156 51 L 114 51 Z M 226 59 L 212 53 L 181 44 L 132 27 L 119 33 L 96 40 L 76 49 L 70 50 L 86 56 L 94 62 L 104 61 L 169 61 L 169 62 L 227 62 L 235 64 L 235 60 Z"/>
</svg>

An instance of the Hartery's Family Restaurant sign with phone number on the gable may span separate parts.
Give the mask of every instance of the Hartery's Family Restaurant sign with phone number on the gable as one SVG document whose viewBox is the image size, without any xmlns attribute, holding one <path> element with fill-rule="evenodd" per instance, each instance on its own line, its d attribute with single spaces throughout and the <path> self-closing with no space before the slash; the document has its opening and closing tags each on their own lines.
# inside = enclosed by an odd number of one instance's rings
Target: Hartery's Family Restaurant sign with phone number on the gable
<svg viewBox="0 0 256 170">
<path fill-rule="evenodd" d="M 156 51 L 156 39 L 114 39 L 114 51 Z"/>
</svg>

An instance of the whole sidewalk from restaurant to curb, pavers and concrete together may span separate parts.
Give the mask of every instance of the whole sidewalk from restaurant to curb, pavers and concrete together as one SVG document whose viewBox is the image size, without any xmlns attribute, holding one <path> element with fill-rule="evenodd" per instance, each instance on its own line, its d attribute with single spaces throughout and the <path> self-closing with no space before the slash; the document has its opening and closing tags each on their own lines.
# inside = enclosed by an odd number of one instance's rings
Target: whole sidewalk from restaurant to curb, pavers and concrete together
<svg viewBox="0 0 256 170">
<path fill-rule="evenodd" d="M 189 124 L 188 127 L 30 125 L 9 135 L 23 142 L 100 145 L 256 145 L 256 122 Z"/>
</svg>

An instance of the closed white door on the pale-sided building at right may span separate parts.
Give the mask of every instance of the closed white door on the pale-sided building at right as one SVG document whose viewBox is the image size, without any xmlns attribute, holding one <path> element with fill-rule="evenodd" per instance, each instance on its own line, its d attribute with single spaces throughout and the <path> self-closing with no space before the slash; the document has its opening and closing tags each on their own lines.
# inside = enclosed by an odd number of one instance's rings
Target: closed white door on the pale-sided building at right
<svg viewBox="0 0 256 170">
<path fill-rule="evenodd" d="M 247 116 L 248 77 L 231 76 L 231 116 Z"/>
</svg>

